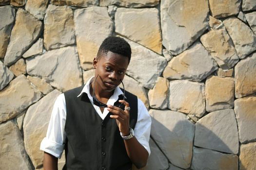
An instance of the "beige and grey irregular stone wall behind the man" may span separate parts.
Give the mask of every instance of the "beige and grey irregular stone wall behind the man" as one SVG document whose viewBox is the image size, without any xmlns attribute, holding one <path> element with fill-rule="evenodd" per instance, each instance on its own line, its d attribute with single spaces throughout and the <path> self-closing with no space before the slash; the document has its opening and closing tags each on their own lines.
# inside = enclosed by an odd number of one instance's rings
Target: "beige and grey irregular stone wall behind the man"
<svg viewBox="0 0 256 170">
<path fill-rule="evenodd" d="M 152 117 L 143 170 L 256 169 L 256 0 L 0 0 L 1 170 L 42 169 L 56 97 L 110 35 Z"/>
</svg>

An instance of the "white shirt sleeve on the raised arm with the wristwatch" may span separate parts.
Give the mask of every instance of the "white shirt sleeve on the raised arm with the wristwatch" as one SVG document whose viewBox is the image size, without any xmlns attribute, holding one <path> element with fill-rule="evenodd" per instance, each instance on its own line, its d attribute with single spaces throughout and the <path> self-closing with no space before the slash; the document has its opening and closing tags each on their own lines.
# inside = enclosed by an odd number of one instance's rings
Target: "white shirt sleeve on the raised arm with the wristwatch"
<svg viewBox="0 0 256 170">
<path fill-rule="evenodd" d="M 138 119 L 134 128 L 134 135 L 138 142 L 147 150 L 150 155 L 149 137 L 151 130 L 151 118 L 144 103 L 138 99 Z"/>
</svg>

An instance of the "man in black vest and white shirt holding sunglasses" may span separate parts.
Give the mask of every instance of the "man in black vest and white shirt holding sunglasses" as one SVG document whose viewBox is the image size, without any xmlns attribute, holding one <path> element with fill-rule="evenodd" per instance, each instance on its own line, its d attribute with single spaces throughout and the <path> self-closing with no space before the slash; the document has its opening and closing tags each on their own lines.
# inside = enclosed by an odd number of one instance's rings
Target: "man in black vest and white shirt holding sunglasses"
<svg viewBox="0 0 256 170">
<path fill-rule="evenodd" d="M 146 165 L 150 116 L 135 95 L 118 87 L 130 59 L 124 39 L 106 38 L 93 60 L 95 76 L 59 95 L 40 146 L 44 170 L 57 169 L 63 149 L 64 169 L 131 170 L 132 163 Z"/>
</svg>

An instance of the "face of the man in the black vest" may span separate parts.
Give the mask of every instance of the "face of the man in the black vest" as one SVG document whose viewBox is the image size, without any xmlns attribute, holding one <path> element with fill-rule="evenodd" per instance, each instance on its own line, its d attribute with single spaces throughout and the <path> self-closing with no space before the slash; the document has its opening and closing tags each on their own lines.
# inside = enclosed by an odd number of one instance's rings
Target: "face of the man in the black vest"
<svg viewBox="0 0 256 170">
<path fill-rule="evenodd" d="M 129 65 L 128 57 L 108 51 L 99 59 L 94 58 L 95 78 L 101 89 L 113 91 L 123 80 Z"/>
</svg>

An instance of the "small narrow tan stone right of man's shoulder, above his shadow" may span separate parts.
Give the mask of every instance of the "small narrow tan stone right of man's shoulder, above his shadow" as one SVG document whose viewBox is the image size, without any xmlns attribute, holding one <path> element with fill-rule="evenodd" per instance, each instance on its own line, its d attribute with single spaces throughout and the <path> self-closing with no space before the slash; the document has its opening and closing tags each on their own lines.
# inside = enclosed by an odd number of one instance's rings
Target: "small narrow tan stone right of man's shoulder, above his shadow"
<svg viewBox="0 0 256 170">
<path fill-rule="evenodd" d="M 168 89 L 169 81 L 165 78 L 158 77 L 156 85 L 148 92 L 150 107 L 155 109 L 166 109 Z"/>
</svg>

